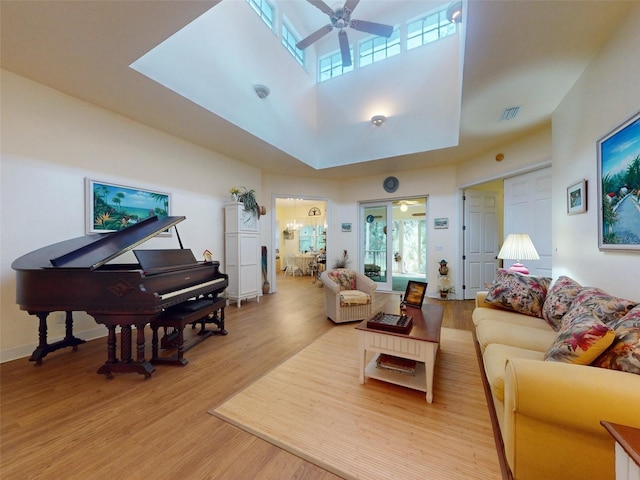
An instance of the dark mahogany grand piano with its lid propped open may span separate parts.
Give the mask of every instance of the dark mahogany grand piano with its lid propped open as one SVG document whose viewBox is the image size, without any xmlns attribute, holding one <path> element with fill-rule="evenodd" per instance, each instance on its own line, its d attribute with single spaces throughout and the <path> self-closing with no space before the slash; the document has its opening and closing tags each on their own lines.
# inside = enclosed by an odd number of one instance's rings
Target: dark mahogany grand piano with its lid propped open
<svg viewBox="0 0 640 480">
<path fill-rule="evenodd" d="M 42 359 L 59 348 L 84 340 L 73 335 L 73 311 L 84 311 L 108 329 L 107 361 L 98 370 L 108 378 L 116 372 L 135 372 L 148 378 L 155 370 L 145 360 L 145 325 L 169 307 L 199 297 L 213 297 L 228 286 L 220 262 L 198 262 L 189 249 L 134 250 L 139 263 L 109 263 L 185 217 L 147 218 L 123 230 L 85 235 L 35 250 L 18 259 L 16 302 L 39 318 L 39 343 L 30 360 Z M 147 253 L 147 255 L 142 255 Z M 151 255 L 148 255 L 151 253 Z M 140 254 L 140 255 L 138 255 Z M 141 258 L 149 265 L 141 265 Z M 47 343 L 47 316 L 66 312 L 63 340 Z M 136 359 L 132 358 L 132 327 L 137 330 Z M 116 358 L 116 327 L 120 331 L 120 359 Z"/>
</svg>

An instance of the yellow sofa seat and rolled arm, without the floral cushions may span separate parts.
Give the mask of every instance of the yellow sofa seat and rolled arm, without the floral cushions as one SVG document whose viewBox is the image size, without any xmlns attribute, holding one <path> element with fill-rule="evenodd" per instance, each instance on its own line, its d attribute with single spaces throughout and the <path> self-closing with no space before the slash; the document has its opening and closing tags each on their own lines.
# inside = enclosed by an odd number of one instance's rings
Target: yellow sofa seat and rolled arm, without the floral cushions
<svg viewBox="0 0 640 480">
<path fill-rule="evenodd" d="M 512 478 L 613 480 L 614 443 L 600 421 L 640 428 L 640 375 L 545 361 L 551 326 L 486 296 L 473 322 Z"/>
</svg>

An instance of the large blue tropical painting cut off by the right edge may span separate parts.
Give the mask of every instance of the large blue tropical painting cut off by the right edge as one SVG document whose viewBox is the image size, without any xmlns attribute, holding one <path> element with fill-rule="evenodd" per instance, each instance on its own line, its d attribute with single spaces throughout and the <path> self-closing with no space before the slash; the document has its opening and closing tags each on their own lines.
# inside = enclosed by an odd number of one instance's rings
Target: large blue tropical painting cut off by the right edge
<svg viewBox="0 0 640 480">
<path fill-rule="evenodd" d="M 598 248 L 640 250 L 640 112 L 597 142 Z"/>
</svg>

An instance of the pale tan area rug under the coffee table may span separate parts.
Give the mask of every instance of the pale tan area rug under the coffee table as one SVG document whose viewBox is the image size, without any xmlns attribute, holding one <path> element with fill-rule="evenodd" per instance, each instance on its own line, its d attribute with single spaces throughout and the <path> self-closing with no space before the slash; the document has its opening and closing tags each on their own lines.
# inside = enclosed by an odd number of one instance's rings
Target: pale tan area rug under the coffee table
<svg viewBox="0 0 640 480">
<path fill-rule="evenodd" d="M 499 479 L 470 332 L 443 328 L 432 404 L 358 381 L 358 337 L 337 326 L 209 411 L 346 479 Z"/>
</svg>

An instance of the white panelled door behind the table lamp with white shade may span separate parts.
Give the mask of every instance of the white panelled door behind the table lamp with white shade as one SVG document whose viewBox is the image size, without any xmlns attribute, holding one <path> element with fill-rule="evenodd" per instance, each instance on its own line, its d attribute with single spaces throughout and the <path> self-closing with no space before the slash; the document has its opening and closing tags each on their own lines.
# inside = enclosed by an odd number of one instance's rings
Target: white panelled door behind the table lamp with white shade
<svg viewBox="0 0 640 480">
<path fill-rule="evenodd" d="M 504 237 L 510 233 L 528 233 L 538 251 L 540 260 L 523 262 L 531 275 L 551 277 L 551 167 L 505 179 Z"/>
</svg>

